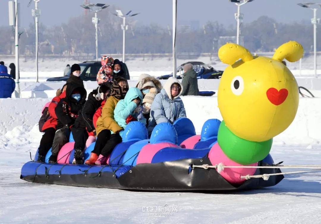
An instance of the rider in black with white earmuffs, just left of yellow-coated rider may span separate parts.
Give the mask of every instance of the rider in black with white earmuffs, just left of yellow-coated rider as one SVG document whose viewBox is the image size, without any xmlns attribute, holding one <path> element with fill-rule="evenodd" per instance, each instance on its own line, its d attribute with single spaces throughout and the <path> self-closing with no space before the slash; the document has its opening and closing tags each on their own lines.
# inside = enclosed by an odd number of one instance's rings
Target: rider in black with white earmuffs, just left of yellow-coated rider
<svg viewBox="0 0 321 224">
<path fill-rule="evenodd" d="M 108 82 L 102 83 L 97 89 L 88 94 L 88 99 L 84 104 L 79 116 L 76 118 L 74 126 L 71 128 L 75 140 L 74 158 L 76 164 L 83 164 L 83 153 L 88 134 L 96 136 L 96 130 L 93 125 L 93 116 L 100 107 L 101 102 L 107 98 L 110 91 Z"/>
</svg>

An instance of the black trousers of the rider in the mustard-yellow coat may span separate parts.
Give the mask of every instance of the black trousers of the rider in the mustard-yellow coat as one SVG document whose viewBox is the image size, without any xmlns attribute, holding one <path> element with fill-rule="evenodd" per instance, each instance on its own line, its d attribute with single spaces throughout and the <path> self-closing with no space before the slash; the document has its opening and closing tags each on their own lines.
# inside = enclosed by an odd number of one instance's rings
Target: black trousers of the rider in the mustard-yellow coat
<svg viewBox="0 0 321 224">
<path fill-rule="evenodd" d="M 101 154 L 103 156 L 108 156 L 121 141 L 122 138 L 118 133 L 111 134 L 110 130 L 102 130 L 97 136 L 95 148 L 92 152 L 97 155 Z"/>
</svg>

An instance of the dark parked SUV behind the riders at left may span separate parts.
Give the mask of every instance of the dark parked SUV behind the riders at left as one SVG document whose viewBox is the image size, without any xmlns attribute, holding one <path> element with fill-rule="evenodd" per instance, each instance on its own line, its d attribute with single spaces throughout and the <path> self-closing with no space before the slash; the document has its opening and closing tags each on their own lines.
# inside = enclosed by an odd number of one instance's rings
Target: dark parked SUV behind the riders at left
<svg viewBox="0 0 321 224">
<path fill-rule="evenodd" d="M 96 81 L 97 73 L 101 67 L 100 61 L 84 61 L 79 63 L 80 66 L 80 78 L 83 81 Z M 121 62 L 121 68 L 126 74 L 126 79 L 130 79 L 128 68 L 125 63 Z M 47 81 L 67 81 L 70 76 L 70 71 L 62 77 L 48 78 Z"/>
</svg>

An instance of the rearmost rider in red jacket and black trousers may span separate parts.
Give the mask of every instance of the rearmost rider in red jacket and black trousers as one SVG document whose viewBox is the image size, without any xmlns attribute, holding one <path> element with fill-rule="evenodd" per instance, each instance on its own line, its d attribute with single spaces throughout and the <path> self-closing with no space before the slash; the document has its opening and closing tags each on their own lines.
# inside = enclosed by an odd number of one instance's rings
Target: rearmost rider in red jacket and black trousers
<svg viewBox="0 0 321 224">
<path fill-rule="evenodd" d="M 51 100 L 48 106 L 49 119 L 42 126 L 42 132 L 45 132 L 40 140 L 40 145 L 38 148 L 38 160 L 37 162 L 45 162 L 46 154 L 52 146 L 54 141 L 56 126 L 58 124 L 57 115 L 55 109 L 62 98 L 66 96 L 67 84 L 62 87 L 62 90 L 57 90 L 56 96 Z"/>
</svg>

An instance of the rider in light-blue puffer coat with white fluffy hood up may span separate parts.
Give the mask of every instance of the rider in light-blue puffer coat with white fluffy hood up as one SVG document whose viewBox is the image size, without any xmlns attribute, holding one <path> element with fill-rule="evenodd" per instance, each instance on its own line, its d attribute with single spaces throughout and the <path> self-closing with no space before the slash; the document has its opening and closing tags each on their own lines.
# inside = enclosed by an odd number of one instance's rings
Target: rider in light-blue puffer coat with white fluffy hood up
<svg viewBox="0 0 321 224">
<path fill-rule="evenodd" d="M 174 123 L 178 118 L 186 117 L 186 111 L 182 99 L 179 97 L 183 91 L 183 85 L 174 77 L 169 77 L 164 88 L 156 95 L 152 106 L 148 123 L 148 134 L 159 123 Z"/>
</svg>

